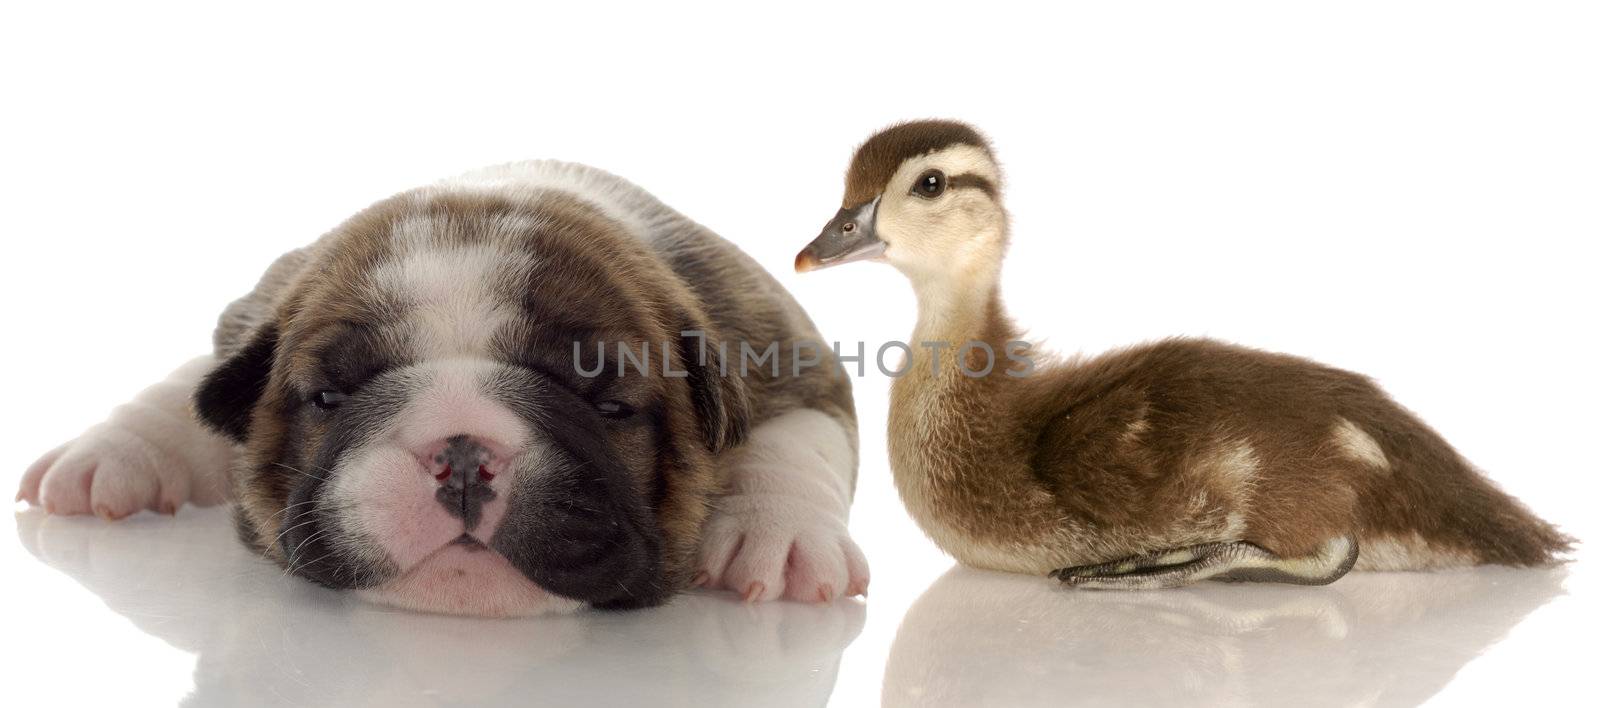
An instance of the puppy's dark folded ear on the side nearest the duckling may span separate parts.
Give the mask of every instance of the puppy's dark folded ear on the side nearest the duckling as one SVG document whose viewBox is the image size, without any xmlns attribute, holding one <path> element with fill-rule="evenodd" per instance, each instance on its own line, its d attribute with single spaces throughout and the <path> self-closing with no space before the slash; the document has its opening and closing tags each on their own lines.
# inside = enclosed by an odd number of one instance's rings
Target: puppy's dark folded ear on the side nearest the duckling
<svg viewBox="0 0 1600 708">
<path fill-rule="evenodd" d="M 750 400 L 739 372 L 726 364 L 739 359 L 736 344 L 691 322 L 678 330 L 677 359 L 688 372 L 690 396 L 706 447 L 722 452 L 744 442 L 750 431 Z"/>
</svg>

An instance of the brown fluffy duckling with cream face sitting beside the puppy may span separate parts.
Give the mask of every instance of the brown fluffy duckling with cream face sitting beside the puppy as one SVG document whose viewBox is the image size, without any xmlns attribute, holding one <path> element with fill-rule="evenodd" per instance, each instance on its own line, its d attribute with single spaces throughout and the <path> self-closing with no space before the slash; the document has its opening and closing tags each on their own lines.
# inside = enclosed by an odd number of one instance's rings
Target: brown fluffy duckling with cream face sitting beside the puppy
<svg viewBox="0 0 1600 708">
<path fill-rule="evenodd" d="M 957 561 L 1141 589 L 1539 565 L 1570 549 L 1366 376 L 1198 338 L 1035 357 L 1000 301 L 1000 187 L 971 127 L 890 127 L 856 149 L 843 208 L 795 258 L 802 272 L 886 261 L 910 279 L 890 466 Z"/>
</svg>

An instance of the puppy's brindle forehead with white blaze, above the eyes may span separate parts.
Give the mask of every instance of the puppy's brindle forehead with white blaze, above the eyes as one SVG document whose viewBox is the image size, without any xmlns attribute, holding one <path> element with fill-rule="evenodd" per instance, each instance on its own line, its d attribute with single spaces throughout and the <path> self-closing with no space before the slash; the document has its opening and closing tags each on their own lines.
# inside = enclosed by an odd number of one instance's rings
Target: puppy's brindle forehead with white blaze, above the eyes
<svg viewBox="0 0 1600 708">
<path fill-rule="evenodd" d="M 634 303 L 648 298 L 613 276 L 635 239 L 587 202 L 558 192 L 390 202 L 346 223 L 302 282 L 285 333 L 296 367 L 341 354 L 504 359 L 533 328 L 566 341 L 630 338 L 643 320 Z M 339 351 L 352 328 L 366 333 L 365 351 Z"/>
</svg>

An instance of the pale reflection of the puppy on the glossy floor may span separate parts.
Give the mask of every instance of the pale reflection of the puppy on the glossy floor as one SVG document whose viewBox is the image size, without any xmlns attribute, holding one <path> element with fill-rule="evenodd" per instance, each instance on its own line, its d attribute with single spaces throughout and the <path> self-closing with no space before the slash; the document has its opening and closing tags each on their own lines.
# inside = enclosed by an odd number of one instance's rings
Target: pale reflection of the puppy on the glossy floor
<svg viewBox="0 0 1600 708">
<path fill-rule="evenodd" d="M 219 509 L 125 525 L 26 513 L 16 525 L 34 557 L 195 655 L 184 705 L 822 705 L 866 618 L 859 602 L 699 593 L 626 615 L 419 615 L 285 578 L 229 538 Z M 29 660 L 70 665 L 72 649 Z M 149 679 L 139 698 L 154 702 L 163 681 Z M 54 697 L 82 703 L 74 689 Z"/>
</svg>

